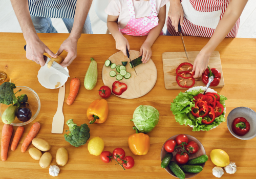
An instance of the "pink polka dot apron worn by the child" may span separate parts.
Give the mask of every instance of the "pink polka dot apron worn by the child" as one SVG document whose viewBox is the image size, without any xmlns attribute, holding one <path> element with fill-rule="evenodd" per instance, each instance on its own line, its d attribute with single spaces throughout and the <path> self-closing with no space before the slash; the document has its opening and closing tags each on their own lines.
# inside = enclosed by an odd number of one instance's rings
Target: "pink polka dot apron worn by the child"
<svg viewBox="0 0 256 179">
<path fill-rule="evenodd" d="M 148 35 L 151 29 L 158 26 L 158 12 L 156 10 L 156 0 L 150 0 L 151 12 L 147 17 L 135 18 L 133 0 L 127 0 L 127 5 L 129 7 L 130 20 L 127 25 L 120 29 L 122 34 L 133 35 L 133 36 L 144 36 Z M 163 35 L 161 31 L 160 35 Z"/>
</svg>

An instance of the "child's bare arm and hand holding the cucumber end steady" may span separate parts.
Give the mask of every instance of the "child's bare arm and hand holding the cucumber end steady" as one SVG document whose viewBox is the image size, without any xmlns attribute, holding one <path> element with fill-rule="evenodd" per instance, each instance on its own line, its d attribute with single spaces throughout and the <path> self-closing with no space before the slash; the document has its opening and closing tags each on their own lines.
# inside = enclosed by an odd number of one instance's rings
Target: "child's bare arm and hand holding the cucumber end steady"
<svg viewBox="0 0 256 179">
<path fill-rule="evenodd" d="M 144 41 L 144 43 L 140 48 L 140 56 L 142 55 L 141 60 L 143 63 L 146 63 L 148 60 L 150 60 L 152 56 L 151 47 L 163 29 L 163 26 L 165 23 L 165 15 L 166 15 L 166 5 L 161 7 L 158 13 L 158 19 L 159 19 L 158 26 L 150 30 L 150 33 L 148 33 L 146 40 Z"/>
</svg>

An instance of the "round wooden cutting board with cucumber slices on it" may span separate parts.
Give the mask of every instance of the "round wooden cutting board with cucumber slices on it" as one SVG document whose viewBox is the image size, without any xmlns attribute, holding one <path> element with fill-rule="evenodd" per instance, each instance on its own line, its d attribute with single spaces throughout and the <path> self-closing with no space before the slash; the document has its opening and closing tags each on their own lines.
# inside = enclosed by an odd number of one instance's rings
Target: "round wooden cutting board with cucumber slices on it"
<svg viewBox="0 0 256 179">
<path fill-rule="evenodd" d="M 130 51 L 131 60 L 138 58 L 139 54 L 140 54 L 139 51 L 131 50 Z M 120 80 L 120 82 L 123 82 L 127 85 L 127 89 L 122 95 L 118 97 L 125 98 L 125 99 L 139 98 L 141 96 L 144 96 L 148 92 L 150 92 L 151 89 L 156 84 L 157 68 L 152 59 L 148 60 L 148 62 L 146 63 L 139 64 L 138 66 L 135 67 L 135 70 L 138 76 L 129 65 L 129 62 L 130 62 L 129 58 L 127 58 L 127 56 L 124 56 L 122 52 L 115 53 L 109 58 L 109 60 L 112 63 L 116 63 L 116 65 L 118 64 L 122 65 L 121 61 L 127 61 L 128 63 L 125 66 L 126 71 L 131 73 L 131 78 L 129 79 L 123 78 L 122 80 Z M 112 70 L 117 72 L 116 69 L 111 69 L 110 66 L 103 65 L 102 80 L 104 85 L 109 86 L 111 90 L 112 90 L 113 82 L 117 81 L 116 77 L 110 76 L 110 71 Z"/>
</svg>

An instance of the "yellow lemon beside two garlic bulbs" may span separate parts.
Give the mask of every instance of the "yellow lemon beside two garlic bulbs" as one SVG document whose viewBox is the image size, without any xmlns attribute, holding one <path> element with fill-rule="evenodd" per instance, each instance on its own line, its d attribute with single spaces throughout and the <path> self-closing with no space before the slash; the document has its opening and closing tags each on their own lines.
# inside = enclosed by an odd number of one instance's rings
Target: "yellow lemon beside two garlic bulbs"
<svg viewBox="0 0 256 179">
<path fill-rule="evenodd" d="M 218 167 L 225 167 L 229 164 L 228 154 L 221 149 L 214 149 L 210 152 L 210 160 Z"/>
</svg>

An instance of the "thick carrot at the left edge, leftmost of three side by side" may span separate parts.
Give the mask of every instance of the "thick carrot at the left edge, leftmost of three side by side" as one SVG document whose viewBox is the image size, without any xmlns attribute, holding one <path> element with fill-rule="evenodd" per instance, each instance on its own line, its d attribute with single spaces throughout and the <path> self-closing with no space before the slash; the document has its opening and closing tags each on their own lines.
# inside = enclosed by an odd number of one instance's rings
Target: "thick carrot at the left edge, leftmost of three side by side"
<svg viewBox="0 0 256 179">
<path fill-rule="evenodd" d="M 2 130 L 2 141 L 1 141 L 1 159 L 2 161 L 6 161 L 7 152 L 10 144 L 10 140 L 12 137 L 12 125 L 5 124 Z"/>
</svg>

